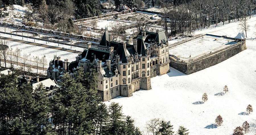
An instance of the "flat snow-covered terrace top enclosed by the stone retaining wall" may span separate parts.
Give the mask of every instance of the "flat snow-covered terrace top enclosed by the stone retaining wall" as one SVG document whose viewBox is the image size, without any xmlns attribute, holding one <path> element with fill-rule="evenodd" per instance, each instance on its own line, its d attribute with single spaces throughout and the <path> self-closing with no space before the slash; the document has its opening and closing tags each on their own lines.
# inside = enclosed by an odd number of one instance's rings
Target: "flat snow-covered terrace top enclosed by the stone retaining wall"
<svg viewBox="0 0 256 135">
<path fill-rule="evenodd" d="M 171 48 L 169 53 L 187 62 L 187 60 L 195 59 L 210 52 L 218 51 L 235 43 L 236 42 L 231 39 L 204 35 L 203 37 L 199 37 Z"/>
</svg>

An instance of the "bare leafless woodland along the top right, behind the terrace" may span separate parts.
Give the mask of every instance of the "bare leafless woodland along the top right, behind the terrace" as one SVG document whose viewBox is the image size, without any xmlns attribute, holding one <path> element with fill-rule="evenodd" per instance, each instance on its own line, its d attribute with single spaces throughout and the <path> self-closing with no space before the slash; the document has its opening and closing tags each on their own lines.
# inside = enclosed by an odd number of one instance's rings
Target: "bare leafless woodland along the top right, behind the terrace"
<svg viewBox="0 0 256 135">
<path fill-rule="evenodd" d="M 218 26 L 220 22 L 243 20 L 251 18 L 255 11 L 253 0 L 193 0 L 193 1 L 160 1 L 163 16 L 162 25 L 165 32 L 172 35 L 191 33 L 191 31 Z"/>
</svg>

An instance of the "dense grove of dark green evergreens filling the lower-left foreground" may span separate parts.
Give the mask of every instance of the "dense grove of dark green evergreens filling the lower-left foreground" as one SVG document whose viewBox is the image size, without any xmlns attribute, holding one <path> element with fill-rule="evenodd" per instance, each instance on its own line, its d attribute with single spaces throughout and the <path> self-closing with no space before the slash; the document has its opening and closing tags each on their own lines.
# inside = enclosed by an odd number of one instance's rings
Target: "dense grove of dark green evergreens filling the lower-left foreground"
<svg viewBox="0 0 256 135">
<path fill-rule="evenodd" d="M 65 74 L 51 99 L 42 83 L 17 87 L 18 74 L 0 76 L 0 134 L 142 135 L 122 106 L 101 102 L 95 70 L 79 68 L 76 80 Z"/>
</svg>

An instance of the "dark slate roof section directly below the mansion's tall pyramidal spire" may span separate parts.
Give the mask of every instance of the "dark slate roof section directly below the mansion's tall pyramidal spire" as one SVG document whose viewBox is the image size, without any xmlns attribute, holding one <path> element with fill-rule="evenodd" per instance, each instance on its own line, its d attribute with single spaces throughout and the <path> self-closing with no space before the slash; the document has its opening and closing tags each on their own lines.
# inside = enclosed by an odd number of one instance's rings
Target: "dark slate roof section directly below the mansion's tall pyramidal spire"
<svg viewBox="0 0 256 135">
<path fill-rule="evenodd" d="M 90 60 L 90 62 L 92 63 L 92 61 L 94 60 L 94 55 L 96 56 L 96 59 L 99 59 L 105 63 L 106 63 L 106 60 L 108 60 L 110 57 L 109 51 L 89 48 L 86 54 L 86 59 Z"/>
</svg>

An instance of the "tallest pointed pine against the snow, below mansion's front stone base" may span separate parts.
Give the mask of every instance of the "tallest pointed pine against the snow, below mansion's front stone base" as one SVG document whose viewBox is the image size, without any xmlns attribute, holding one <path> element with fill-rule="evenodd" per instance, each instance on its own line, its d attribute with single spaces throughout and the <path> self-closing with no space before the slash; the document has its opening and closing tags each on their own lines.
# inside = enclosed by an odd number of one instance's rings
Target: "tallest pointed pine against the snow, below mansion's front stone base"
<svg viewBox="0 0 256 135">
<path fill-rule="evenodd" d="M 110 112 L 108 134 L 119 135 L 121 132 L 121 125 L 123 125 L 122 106 L 119 106 L 119 103 L 112 102 L 108 107 L 108 110 Z"/>
</svg>

